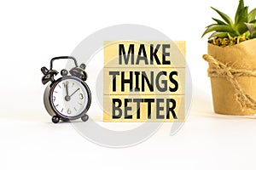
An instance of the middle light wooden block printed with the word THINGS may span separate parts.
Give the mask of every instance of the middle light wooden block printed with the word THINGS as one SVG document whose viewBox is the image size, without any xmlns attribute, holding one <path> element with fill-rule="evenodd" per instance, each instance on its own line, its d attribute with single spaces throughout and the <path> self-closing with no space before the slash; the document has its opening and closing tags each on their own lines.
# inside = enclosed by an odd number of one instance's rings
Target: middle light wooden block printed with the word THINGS
<svg viewBox="0 0 256 170">
<path fill-rule="evenodd" d="M 120 71 L 119 71 L 120 70 Z M 110 75 L 112 72 L 118 72 L 115 78 Z M 132 83 L 124 83 L 124 91 L 122 91 L 122 72 L 125 79 L 132 79 Z M 163 72 L 166 72 L 164 75 Z M 170 74 L 172 81 L 170 81 Z M 177 75 L 176 75 L 177 74 Z M 149 85 L 145 77 L 148 77 Z M 184 68 L 104 68 L 104 94 L 184 94 L 186 73 Z M 115 79 L 115 80 L 114 80 Z M 175 89 L 175 83 L 179 86 Z M 132 84 L 132 85 L 131 85 Z M 115 89 L 114 89 L 115 86 Z M 158 90 L 161 88 L 161 91 Z M 131 88 L 131 89 L 130 89 Z M 137 90 L 139 88 L 139 90 Z M 153 88 L 153 91 L 152 91 Z"/>
</svg>

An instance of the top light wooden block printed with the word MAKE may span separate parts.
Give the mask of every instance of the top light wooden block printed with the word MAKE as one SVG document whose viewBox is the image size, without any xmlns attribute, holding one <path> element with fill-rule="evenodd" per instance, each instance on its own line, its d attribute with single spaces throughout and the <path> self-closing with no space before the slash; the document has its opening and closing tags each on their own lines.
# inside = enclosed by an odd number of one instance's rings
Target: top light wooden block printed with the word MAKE
<svg viewBox="0 0 256 170">
<path fill-rule="evenodd" d="M 120 59 L 121 57 L 119 55 L 119 45 L 123 44 L 125 48 L 126 54 L 128 54 L 129 47 L 131 45 L 134 45 L 134 64 L 131 65 L 131 60 L 129 61 L 128 65 L 125 65 L 124 59 L 122 60 L 122 64 L 120 65 Z M 129 68 L 136 68 L 138 65 L 137 63 L 137 55 L 140 49 L 140 45 L 144 45 L 145 52 L 141 54 L 145 54 L 146 58 L 148 59 L 148 65 L 145 64 L 143 60 L 139 61 L 139 67 L 182 67 L 184 68 L 186 66 L 185 62 L 185 54 L 186 54 L 186 48 L 185 48 L 185 42 L 180 41 L 180 42 L 134 42 L 134 41 L 124 41 L 124 42 L 104 42 L 104 67 L 105 68 L 119 68 L 119 67 L 129 67 Z M 157 59 L 160 60 L 160 63 L 162 64 L 163 60 L 163 46 L 162 45 L 170 45 L 170 48 L 165 48 L 166 54 L 170 54 L 170 56 L 166 56 L 166 60 L 171 61 L 171 65 L 156 65 L 155 58 L 153 58 L 153 63 L 154 65 L 150 65 L 150 48 L 153 47 L 154 50 L 159 46 L 159 50 L 156 53 Z"/>
</svg>

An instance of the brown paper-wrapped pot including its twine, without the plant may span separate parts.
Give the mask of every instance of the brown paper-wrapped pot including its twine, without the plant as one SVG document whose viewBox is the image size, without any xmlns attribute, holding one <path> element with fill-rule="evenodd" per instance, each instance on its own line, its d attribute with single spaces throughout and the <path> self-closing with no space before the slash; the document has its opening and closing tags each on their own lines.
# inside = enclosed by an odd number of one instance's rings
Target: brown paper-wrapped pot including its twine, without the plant
<svg viewBox="0 0 256 170">
<path fill-rule="evenodd" d="M 208 74 L 216 113 L 250 116 L 256 113 L 256 39 L 233 46 L 208 43 Z"/>
</svg>

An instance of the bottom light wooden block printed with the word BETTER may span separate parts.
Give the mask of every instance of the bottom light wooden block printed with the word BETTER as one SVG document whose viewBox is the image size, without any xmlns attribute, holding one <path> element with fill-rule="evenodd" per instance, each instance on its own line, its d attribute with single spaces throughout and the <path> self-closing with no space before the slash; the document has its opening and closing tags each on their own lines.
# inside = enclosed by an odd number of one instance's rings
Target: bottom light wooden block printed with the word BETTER
<svg viewBox="0 0 256 170">
<path fill-rule="evenodd" d="M 103 107 L 104 122 L 184 121 L 183 95 L 104 95 Z"/>
</svg>

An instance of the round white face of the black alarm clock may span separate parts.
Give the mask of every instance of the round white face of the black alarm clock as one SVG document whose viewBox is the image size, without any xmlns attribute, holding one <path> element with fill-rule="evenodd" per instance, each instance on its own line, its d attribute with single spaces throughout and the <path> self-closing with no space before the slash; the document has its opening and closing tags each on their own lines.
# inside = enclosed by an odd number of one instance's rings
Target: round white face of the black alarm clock
<svg viewBox="0 0 256 170">
<path fill-rule="evenodd" d="M 62 116 L 79 116 L 89 102 L 88 91 L 81 81 L 73 78 L 58 82 L 51 95 L 51 104 Z"/>
</svg>

